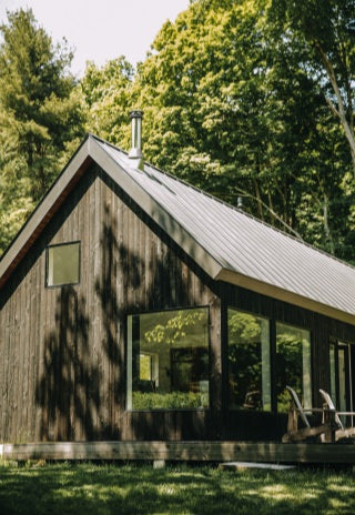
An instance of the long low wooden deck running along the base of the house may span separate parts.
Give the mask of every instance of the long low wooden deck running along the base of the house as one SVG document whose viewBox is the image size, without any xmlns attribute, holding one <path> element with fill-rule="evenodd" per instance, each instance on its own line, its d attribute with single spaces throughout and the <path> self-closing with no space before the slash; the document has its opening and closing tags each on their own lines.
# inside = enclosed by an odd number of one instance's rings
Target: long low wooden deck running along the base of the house
<svg viewBox="0 0 355 515">
<path fill-rule="evenodd" d="M 355 444 L 270 442 L 47 442 L 2 444 L 0 457 L 27 460 L 166 460 L 355 464 Z"/>
</svg>

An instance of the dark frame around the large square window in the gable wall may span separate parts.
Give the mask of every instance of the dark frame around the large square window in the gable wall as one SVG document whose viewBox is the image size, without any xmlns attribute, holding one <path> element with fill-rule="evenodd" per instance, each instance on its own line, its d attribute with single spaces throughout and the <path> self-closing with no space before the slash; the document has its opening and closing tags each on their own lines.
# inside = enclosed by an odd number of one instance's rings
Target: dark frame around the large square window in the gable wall
<svg viewBox="0 0 355 515">
<path fill-rule="evenodd" d="M 209 351 L 209 406 L 207 407 L 154 407 L 154 408 L 129 408 L 128 407 L 128 352 L 129 352 L 129 331 L 128 320 L 129 316 L 149 315 L 154 313 L 169 313 L 170 311 L 191 311 L 205 309 L 207 311 L 207 351 Z M 170 412 L 209 412 L 211 410 L 211 382 L 212 382 L 212 351 L 211 351 L 211 306 L 203 305 L 189 305 L 189 306 L 173 306 L 162 307 L 148 311 L 132 311 L 125 313 L 124 316 L 124 412 L 125 413 L 170 413 Z"/>
</svg>

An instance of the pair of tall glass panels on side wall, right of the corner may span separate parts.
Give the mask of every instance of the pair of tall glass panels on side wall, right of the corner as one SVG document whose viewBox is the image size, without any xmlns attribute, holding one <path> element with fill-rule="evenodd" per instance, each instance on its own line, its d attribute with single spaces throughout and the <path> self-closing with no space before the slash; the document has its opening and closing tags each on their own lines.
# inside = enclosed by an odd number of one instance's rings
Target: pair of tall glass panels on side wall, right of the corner
<svg viewBox="0 0 355 515">
<path fill-rule="evenodd" d="M 271 411 L 275 405 L 287 413 L 287 385 L 305 407 L 312 406 L 310 331 L 276 322 L 273 334 L 275 340 L 267 319 L 227 309 L 230 410 Z"/>
</svg>

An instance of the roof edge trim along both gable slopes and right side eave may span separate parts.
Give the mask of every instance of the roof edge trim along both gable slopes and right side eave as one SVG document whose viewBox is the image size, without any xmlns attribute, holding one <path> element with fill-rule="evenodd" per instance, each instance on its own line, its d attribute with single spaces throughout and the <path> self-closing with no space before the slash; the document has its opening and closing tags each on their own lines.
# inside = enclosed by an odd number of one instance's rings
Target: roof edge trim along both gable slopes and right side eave
<svg viewBox="0 0 355 515">
<path fill-rule="evenodd" d="M 225 281 L 247 290 L 304 307 L 316 313 L 355 324 L 355 314 L 322 304 L 273 284 L 227 270 L 201 245 L 159 202 L 150 196 L 90 134 L 82 142 L 62 174 L 23 225 L 0 260 L 0 287 L 8 280 L 26 252 L 40 235 L 48 221 L 83 175 L 90 163 L 97 162 L 170 238 L 190 255 L 201 269 L 216 281 Z"/>
</svg>

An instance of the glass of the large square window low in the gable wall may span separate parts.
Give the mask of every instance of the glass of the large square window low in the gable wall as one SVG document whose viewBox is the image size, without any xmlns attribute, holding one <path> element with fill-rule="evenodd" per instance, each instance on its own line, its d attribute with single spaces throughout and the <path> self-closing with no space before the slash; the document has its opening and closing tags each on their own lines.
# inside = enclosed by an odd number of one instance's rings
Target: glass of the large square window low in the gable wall
<svg viewBox="0 0 355 515">
<path fill-rule="evenodd" d="M 209 406 L 209 311 L 128 317 L 128 410 Z"/>
</svg>

